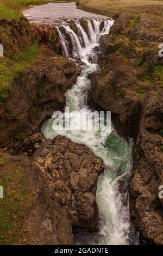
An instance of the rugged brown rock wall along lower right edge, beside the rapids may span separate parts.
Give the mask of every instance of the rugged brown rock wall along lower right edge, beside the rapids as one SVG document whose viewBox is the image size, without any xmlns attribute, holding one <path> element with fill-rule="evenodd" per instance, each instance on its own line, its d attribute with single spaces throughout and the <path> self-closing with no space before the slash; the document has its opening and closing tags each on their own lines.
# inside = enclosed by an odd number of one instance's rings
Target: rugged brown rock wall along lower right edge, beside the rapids
<svg viewBox="0 0 163 256">
<path fill-rule="evenodd" d="M 133 179 L 130 183 L 130 213 L 141 233 L 156 244 L 163 244 L 162 89 L 150 90 L 143 108 L 139 135 L 134 147 Z"/>
</svg>

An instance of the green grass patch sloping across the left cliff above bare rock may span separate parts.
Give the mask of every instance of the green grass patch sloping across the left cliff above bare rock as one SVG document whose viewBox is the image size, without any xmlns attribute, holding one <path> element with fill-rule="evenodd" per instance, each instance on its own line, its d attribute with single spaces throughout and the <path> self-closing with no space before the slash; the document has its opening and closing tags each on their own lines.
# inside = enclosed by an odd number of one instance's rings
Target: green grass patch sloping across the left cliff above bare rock
<svg viewBox="0 0 163 256">
<path fill-rule="evenodd" d="M 41 54 L 42 51 L 35 41 L 28 50 L 15 53 L 12 60 L 7 57 L 0 58 L 0 103 L 8 96 L 9 86 L 14 78 L 18 80 L 21 72 Z"/>
</svg>

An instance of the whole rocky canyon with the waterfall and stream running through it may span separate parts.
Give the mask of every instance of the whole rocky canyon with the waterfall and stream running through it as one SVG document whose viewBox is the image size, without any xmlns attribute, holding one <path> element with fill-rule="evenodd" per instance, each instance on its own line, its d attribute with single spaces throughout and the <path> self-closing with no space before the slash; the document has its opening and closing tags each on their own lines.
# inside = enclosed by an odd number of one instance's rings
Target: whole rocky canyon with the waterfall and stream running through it
<svg viewBox="0 0 163 256">
<path fill-rule="evenodd" d="M 0 20 L 2 245 L 163 244 L 159 16 L 88 5 Z M 65 107 L 78 115 L 55 130 Z M 111 133 L 75 130 L 84 111 L 111 111 Z"/>
</svg>

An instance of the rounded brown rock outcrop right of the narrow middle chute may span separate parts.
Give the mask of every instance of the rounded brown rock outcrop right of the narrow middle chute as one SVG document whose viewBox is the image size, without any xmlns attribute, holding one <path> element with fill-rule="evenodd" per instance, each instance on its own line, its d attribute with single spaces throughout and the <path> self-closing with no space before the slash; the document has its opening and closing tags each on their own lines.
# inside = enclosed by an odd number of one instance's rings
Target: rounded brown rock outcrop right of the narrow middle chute
<svg viewBox="0 0 163 256">
<path fill-rule="evenodd" d="M 92 74 L 91 82 L 89 97 L 112 112 L 112 122 L 121 135 L 135 137 L 141 110 L 141 100 L 135 92 L 136 69 L 118 54 L 110 54 L 106 68 L 100 74 Z"/>
</svg>

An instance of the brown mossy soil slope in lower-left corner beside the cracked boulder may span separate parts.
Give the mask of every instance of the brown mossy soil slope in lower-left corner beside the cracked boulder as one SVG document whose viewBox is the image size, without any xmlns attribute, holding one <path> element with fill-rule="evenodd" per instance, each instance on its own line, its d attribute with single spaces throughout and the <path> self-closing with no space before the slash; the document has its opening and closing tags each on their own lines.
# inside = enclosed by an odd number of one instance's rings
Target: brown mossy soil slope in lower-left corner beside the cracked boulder
<svg viewBox="0 0 163 256">
<path fill-rule="evenodd" d="M 67 213 L 46 193 L 34 161 L 2 153 L 1 159 L 5 200 L 0 204 L 0 244 L 72 245 Z"/>
</svg>

